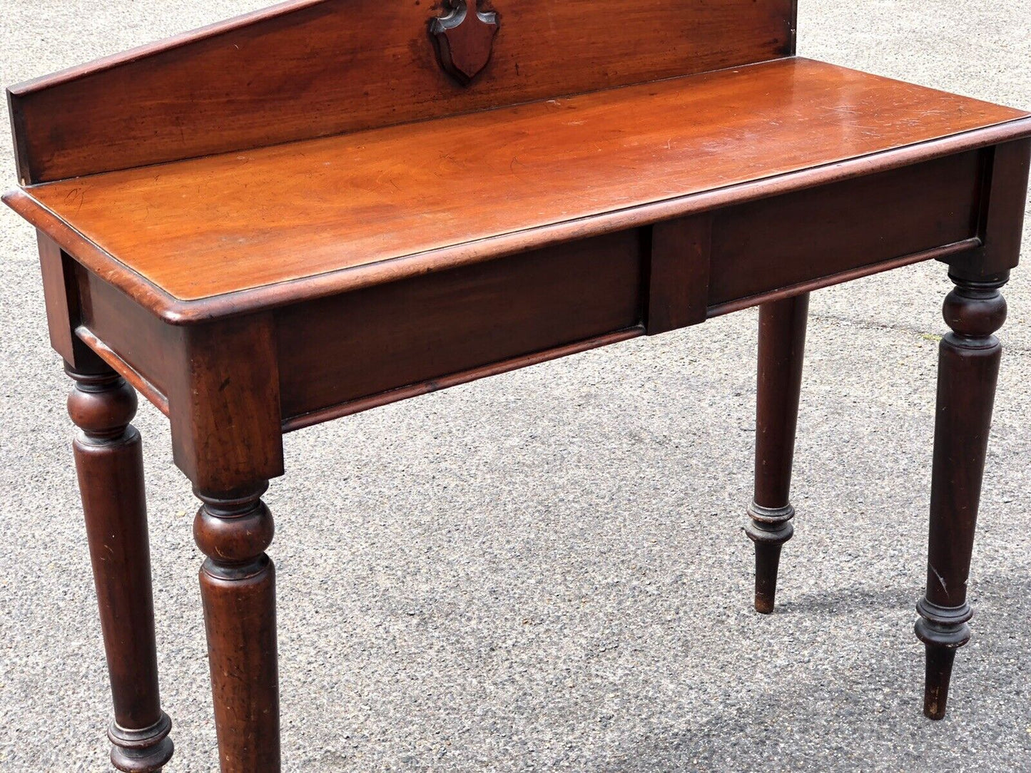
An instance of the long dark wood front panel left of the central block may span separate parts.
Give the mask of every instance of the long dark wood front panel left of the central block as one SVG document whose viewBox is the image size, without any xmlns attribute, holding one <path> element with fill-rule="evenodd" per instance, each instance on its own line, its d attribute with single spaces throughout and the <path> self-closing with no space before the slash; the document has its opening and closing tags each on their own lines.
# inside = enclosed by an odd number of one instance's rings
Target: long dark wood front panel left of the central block
<svg viewBox="0 0 1031 773">
<path fill-rule="evenodd" d="M 628 231 L 280 309 L 282 415 L 638 326 L 641 263 Z"/>
</svg>

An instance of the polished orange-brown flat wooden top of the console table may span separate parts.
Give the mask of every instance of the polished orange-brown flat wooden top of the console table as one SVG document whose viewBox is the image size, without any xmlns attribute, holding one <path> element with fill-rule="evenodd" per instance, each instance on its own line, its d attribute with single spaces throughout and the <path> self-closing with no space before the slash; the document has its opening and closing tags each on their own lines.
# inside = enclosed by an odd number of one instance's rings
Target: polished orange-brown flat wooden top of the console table
<svg viewBox="0 0 1031 773">
<path fill-rule="evenodd" d="M 105 278 L 198 301 L 560 223 L 591 235 L 605 213 L 1011 122 L 1027 135 L 1025 117 L 788 58 L 37 184 L 10 203 L 113 259 Z"/>
</svg>

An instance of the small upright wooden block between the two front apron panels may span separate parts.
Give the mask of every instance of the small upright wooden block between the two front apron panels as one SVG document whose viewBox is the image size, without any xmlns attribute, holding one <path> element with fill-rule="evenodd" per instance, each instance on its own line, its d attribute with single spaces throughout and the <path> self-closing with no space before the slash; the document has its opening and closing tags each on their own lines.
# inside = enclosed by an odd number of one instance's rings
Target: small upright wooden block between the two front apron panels
<svg viewBox="0 0 1031 773">
<path fill-rule="evenodd" d="M 648 335 L 705 321 L 712 253 L 712 215 L 657 223 L 648 261 Z"/>
</svg>

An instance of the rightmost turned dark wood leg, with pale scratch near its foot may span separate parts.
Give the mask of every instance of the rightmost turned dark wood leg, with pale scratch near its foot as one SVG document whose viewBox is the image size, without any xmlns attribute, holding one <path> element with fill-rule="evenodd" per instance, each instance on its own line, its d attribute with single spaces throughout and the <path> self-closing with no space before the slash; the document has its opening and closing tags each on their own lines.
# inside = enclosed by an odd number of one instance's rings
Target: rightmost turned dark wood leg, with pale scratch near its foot
<svg viewBox="0 0 1031 773">
<path fill-rule="evenodd" d="M 945 299 L 944 317 L 953 332 L 938 356 L 927 592 L 917 604 L 916 627 L 927 650 L 924 713 L 931 719 L 945 715 L 956 650 L 970 639 L 967 577 L 1002 356 L 992 334 L 1006 320 L 999 289 L 1007 275 L 951 278 L 956 288 Z"/>
</svg>

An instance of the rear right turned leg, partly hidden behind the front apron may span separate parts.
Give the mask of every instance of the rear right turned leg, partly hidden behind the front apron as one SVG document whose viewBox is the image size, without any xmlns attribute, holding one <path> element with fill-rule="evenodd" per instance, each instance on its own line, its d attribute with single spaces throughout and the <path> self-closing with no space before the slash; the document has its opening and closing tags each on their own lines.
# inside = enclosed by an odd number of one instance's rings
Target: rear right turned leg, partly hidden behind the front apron
<svg viewBox="0 0 1031 773">
<path fill-rule="evenodd" d="M 745 532 L 756 543 L 756 610 L 773 611 L 780 547 L 791 539 L 791 467 L 802 389 L 809 294 L 759 309 L 756 400 L 756 489 Z"/>
</svg>

